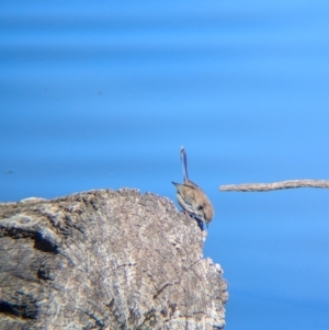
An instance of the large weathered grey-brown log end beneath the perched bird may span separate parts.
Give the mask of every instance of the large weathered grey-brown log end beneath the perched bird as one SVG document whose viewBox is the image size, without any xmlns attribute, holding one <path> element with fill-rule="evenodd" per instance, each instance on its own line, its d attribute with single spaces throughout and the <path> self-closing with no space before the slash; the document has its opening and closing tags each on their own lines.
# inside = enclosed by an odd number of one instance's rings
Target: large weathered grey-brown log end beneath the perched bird
<svg viewBox="0 0 329 330">
<path fill-rule="evenodd" d="M 205 237 L 136 190 L 0 204 L 0 329 L 223 329 Z"/>
</svg>

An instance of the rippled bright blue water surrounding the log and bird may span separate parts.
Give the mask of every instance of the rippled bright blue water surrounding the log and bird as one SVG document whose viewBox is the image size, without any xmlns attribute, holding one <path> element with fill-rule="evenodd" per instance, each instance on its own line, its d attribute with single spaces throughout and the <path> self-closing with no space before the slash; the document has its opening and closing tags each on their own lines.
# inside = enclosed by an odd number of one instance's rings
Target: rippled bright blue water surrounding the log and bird
<svg viewBox="0 0 329 330">
<path fill-rule="evenodd" d="M 228 330 L 329 329 L 328 1 L 0 1 L 0 201 L 190 177 Z"/>
</svg>

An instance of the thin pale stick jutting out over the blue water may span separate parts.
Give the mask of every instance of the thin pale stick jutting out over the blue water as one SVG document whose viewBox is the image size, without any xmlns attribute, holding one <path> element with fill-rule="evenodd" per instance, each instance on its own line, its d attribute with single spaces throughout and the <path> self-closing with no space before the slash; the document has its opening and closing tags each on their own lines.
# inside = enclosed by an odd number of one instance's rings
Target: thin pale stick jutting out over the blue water
<svg viewBox="0 0 329 330">
<path fill-rule="evenodd" d="M 326 180 L 290 180 L 273 183 L 243 183 L 220 185 L 223 192 L 269 192 L 281 189 L 292 187 L 329 187 Z"/>
</svg>

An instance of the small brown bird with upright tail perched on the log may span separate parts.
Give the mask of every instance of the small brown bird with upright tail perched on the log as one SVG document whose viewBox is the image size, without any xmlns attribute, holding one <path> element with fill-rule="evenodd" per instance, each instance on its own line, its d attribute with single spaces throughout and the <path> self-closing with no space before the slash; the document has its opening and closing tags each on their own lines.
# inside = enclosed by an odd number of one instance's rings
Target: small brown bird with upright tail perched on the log
<svg viewBox="0 0 329 330">
<path fill-rule="evenodd" d="M 203 190 L 189 179 L 188 157 L 184 147 L 181 147 L 180 156 L 184 182 L 172 182 L 177 187 L 177 201 L 185 215 L 195 218 L 201 229 L 203 229 L 204 223 L 208 227 L 208 224 L 212 221 L 215 214 L 214 207 Z"/>
</svg>

